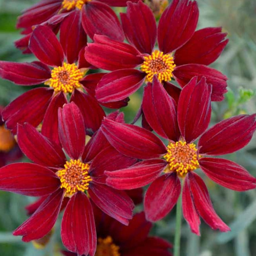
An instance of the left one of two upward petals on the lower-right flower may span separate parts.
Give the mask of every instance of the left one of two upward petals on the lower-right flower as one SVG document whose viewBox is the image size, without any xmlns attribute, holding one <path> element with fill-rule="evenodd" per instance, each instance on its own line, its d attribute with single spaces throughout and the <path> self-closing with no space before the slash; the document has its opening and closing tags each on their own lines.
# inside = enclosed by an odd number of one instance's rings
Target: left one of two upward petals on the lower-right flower
<svg viewBox="0 0 256 256">
<path fill-rule="evenodd" d="M 180 131 L 177 123 L 176 102 L 164 90 L 156 76 L 153 83 L 144 87 L 143 113 L 152 129 L 165 139 L 178 141 Z M 166 117 L 168 122 L 166 122 Z"/>
</svg>

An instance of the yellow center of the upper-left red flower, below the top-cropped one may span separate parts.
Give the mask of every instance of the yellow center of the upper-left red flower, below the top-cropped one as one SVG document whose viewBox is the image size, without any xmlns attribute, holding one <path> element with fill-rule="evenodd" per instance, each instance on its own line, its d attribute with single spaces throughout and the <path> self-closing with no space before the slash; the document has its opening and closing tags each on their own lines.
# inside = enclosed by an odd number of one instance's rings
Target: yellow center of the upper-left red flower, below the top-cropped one
<svg viewBox="0 0 256 256">
<path fill-rule="evenodd" d="M 75 88 L 81 87 L 79 81 L 83 78 L 83 73 L 76 64 L 63 63 L 62 67 L 52 69 L 52 78 L 44 84 L 49 85 L 55 92 L 73 92 Z"/>
</svg>

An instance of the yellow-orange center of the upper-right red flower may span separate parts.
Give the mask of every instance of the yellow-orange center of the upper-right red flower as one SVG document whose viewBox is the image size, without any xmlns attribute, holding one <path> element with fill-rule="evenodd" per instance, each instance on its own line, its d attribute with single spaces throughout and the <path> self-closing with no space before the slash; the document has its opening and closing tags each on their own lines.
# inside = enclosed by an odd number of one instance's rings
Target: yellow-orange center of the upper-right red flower
<svg viewBox="0 0 256 256">
<path fill-rule="evenodd" d="M 168 82 L 172 79 L 172 71 L 175 66 L 171 54 L 164 54 L 164 52 L 156 50 L 151 55 L 144 57 L 140 69 L 147 74 L 146 80 L 148 82 L 153 81 L 154 75 L 160 82 Z"/>
</svg>

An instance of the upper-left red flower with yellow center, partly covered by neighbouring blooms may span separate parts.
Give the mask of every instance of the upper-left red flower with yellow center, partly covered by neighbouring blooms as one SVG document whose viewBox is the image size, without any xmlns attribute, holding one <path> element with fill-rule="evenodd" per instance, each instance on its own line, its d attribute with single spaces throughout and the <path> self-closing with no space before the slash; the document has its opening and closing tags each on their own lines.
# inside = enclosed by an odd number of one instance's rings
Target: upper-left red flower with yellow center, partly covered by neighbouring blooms
<svg viewBox="0 0 256 256">
<path fill-rule="evenodd" d="M 0 61 L 2 78 L 20 85 L 44 83 L 47 86 L 23 93 L 3 110 L 5 125 L 14 134 L 17 123 L 28 122 L 36 127 L 43 121 L 42 134 L 60 145 L 57 111 L 68 102 L 69 96 L 83 114 L 87 133 L 92 135 L 100 127 L 105 113 L 94 98 L 94 87 L 103 74 L 84 76 L 89 65 L 84 59 L 84 42 L 73 32 L 73 37 L 63 37 L 59 42 L 50 28 L 38 26 L 32 33 L 29 48 L 41 62 Z M 119 105 L 117 102 L 114 107 Z"/>
</svg>

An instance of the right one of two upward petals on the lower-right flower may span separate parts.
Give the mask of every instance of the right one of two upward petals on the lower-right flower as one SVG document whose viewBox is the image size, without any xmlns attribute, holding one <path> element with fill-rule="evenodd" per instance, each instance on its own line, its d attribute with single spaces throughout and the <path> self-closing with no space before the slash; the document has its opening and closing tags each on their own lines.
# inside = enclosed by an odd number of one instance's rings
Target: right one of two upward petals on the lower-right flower
<svg viewBox="0 0 256 256">
<path fill-rule="evenodd" d="M 190 143 L 207 128 L 211 119 L 212 86 L 206 84 L 205 77 L 197 82 L 197 77 L 183 87 L 178 104 L 178 123 L 183 138 Z"/>
</svg>

